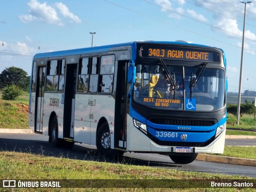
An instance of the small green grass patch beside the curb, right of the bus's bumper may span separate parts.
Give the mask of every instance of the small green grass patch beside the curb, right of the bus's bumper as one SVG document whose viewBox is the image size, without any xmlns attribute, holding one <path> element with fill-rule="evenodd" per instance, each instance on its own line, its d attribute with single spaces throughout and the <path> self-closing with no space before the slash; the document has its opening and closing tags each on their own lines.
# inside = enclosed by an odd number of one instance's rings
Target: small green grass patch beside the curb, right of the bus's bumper
<svg viewBox="0 0 256 192">
<path fill-rule="evenodd" d="M 256 146 L 225 146 L 224 153 L 219 156 L 256 159 Z M 216 154 L 214 154 L 216 155 Z"/>
</svg>

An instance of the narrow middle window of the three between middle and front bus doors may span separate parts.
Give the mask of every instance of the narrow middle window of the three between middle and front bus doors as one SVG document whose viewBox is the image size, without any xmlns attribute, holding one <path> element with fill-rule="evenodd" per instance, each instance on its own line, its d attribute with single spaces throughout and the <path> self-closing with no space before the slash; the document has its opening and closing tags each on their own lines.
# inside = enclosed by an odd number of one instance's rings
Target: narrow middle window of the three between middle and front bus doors
<svg viewBox="0 0 256 192">
<path fill-rule="evenodd" d="M 90 74 L 90 93 L 97 93 L 98 87 L 98 71 L 99 71 L 99 57 L 92 57 L 91 74 Z"/>
</svg>

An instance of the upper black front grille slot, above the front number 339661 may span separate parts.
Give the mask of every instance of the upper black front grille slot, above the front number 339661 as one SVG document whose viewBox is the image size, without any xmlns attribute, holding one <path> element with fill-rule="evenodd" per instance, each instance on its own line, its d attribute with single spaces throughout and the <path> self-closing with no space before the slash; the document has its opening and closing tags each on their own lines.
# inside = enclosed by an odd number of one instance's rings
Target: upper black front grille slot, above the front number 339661
<svg viewBox="0 0 256 192">
<path fill-rule="evenodd" d="M 160 125 L 180 125 L 180 126 L 212 126 L 215 120 L 196 120 L 196 119 L 171 119 L 171 118 L 151 118 L 152 123 Z"/>
</svg>

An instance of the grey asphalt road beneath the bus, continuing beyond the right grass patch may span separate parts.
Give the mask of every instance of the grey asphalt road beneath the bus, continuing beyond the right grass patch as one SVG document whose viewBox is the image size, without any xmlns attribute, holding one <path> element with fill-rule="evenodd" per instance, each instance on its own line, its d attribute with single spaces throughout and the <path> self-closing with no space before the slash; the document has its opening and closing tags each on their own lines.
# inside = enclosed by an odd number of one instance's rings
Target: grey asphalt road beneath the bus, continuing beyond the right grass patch
<svg viewBox="0 0 256 192">
<path fill-rule="evenodd" d="M 244 139 L 228 139 L 226 145 L 244 145 Z M 250 141 L 255 145 L 255 141 Z M 246 144 L 247 145 L 247 144 Z M 132 165 L 144 165 L 176 170 L 218 173 L 228 175 L 244 175 L 256 178 L 256 168 L 253 166 L 240 166 L 195 160 L 190 164 L 175 164 L 169 156 L 159 154 L 124 153 L 117 160 L 103 158 L 96 151 L 95 146 L 75 144 L 72 149 L 52 147 L 48 143 L 48 136 L 38 134 L 11 134 L 0 133 L 0 150 L 44 154 L 46 156 L 65 157 L 78 160 L 94 160 L 99 162 L 112 162 Z"/>
</svg>

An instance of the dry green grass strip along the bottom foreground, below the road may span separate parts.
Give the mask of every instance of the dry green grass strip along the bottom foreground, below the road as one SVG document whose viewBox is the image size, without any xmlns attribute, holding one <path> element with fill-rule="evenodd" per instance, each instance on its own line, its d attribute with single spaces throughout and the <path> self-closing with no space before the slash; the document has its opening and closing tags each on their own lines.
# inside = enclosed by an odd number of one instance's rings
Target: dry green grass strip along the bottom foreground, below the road
<svg viewBox="0 0 256 192">
<path fill-rule="evenodd" d="M 0 179 L 157 179 L 159 182 L 165 179 L 178 179 L 182 182 L 186 179 L 250 179 L 245 176 L 230 176 L 221 174 L 210 174 L 201 172 L 180 171 L 176 169 L 154 168 L 150 166 L 134 166 L 121 163 L 108 163 L 96 161 L 73 160 L 68 158 L 47 157 L 44 155 L 33 155 L 19 152 L 0 152 Z M 123 179 L 123 180 L 122 180 Z M 181 180 L 182 179 L 182 180 Z M 155 181 L 157 182 L 157 181 Z M 104 186 L 104 185 L 103 185 Z M 132 186 L 129 186 L 132 187 Z M 12 189 L 10 191 L 46 191 L 53 189 Z M 7 191 L 7 190 L 5 190 Z M 84 188 L 68 189 L 62 188 L 55 191 L 104 191 L 104 192 L 215 192 L 223 191 L 221 188 Z M 256 191 L 256 189 L 225 188 L 226 192 Z"/>
</svg>

